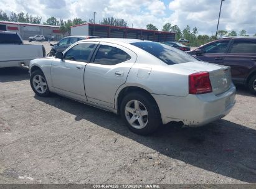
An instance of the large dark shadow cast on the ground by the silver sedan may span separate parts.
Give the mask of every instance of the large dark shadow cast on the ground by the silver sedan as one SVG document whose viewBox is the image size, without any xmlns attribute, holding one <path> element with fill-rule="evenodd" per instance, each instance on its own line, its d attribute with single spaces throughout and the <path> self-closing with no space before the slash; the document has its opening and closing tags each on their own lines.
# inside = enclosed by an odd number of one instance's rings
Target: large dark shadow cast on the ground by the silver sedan
<svg viewBox="0 0 256 189">
<path fill-rule="evenodd" d="M 130 132 L 120 116 L 72 101 L 57 94 L 39 101 L 128 137 L 171 159 L 240 181 L 256 182 L 256 131 L 225 119 L 204 127 L 161 126 L 151 136 Z M 97 115 L 97 116 L 95 116 Z"/>
</svg>

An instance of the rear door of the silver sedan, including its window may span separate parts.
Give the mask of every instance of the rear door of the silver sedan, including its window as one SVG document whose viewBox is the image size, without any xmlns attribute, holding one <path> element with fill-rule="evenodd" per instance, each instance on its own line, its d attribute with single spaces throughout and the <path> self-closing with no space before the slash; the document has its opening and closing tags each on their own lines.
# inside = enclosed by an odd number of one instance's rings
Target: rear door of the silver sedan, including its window
<svg viewBox="0 0 256 189">
<path fill-rule="evenodd" d="M 114 108 L 115 93 L 126 81 L 136 54 L 121 45 L 101 42 L 85 67 L 85 92 L 88 101 Z"/>
</svg>

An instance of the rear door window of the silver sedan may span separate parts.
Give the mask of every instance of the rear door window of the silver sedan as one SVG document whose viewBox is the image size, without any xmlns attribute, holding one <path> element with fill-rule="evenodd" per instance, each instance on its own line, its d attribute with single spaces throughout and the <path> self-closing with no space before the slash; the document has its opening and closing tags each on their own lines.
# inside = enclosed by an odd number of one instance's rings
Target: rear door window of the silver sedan
<svg viewBox="0 0 256 189">
<path fill-rule="evenodd" d="M 129 60 L 131 57 L 123 50 L 108 45 L 100 45 L 94 62 L 103 65 L 115 65 Z"/>
</svg>

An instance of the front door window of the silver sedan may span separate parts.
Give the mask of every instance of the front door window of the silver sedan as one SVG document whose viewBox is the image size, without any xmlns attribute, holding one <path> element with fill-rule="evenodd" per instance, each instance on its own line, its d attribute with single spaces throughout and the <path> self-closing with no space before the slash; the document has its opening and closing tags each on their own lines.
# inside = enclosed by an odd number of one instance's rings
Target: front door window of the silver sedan
<svg viewBox="0 0 256 189">
<path fill-rule="evenodd" d="M 65 53 L 64 59 L 88 62 L 88 58 L 94 47 L 95 44 L 77 44 Z"/>
</svg>

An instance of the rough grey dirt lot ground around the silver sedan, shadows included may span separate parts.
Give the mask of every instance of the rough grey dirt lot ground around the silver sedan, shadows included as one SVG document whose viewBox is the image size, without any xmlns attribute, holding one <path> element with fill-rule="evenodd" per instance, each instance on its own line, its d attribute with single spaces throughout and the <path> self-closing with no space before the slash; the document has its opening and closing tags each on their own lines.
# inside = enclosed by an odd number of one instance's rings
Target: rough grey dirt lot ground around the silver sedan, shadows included
<svg viewBox="0 0 256 189">
<path fill-rule="evenodd" d="M 119 116 L 53 94 L 27 68 L 0 69 L 0 183 L 255 183 L 256 98 L 199 128 L 128 131 Z"/>
</svg>

